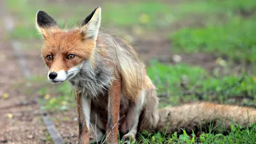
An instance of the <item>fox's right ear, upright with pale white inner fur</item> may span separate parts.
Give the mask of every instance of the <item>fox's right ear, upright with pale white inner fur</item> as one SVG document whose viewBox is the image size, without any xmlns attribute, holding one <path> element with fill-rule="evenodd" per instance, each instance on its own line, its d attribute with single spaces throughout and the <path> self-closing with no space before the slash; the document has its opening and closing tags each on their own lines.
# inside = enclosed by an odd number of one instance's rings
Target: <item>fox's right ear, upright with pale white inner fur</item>
<svg viewBox="0 0 256 144">
<path fill-rule="evenodd" d="M 82 22 L 81 33 L 84 38 L 93 38 L 93 40 L 97 40 L 97 35 L 99 33 L 100 28 L 100 20 L 101 20 L 101 8 L 95 8 L 90 15 L 86 17 L 86 19 Z"/>
</svg>

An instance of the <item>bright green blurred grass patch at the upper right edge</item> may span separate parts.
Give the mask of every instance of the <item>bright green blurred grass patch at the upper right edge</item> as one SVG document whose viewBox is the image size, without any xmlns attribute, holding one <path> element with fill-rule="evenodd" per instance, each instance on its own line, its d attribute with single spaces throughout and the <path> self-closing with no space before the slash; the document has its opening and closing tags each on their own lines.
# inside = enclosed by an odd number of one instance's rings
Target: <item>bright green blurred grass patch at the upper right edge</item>
<svg viewBox="0 0 256 144">
<path fill-rule="evenodd" d="M 213 22 L 208 20 L 204 26 L 177 29 L 170 35 L 172 49 L 175 52 L 207 52 L 226 58 L 232 65 L 252 65 L 256 60 L 255 20 L 256 3 L 254 1 L 211 1 L 206 4 L 214 10 L 225 13 L 225 19 Z M 218 8 L 214 8 L 218 6 Z M 246 16 L 244 16 L 246 15 Z M 204 20 L 203 20 L 204 21 Z"/>
</svg>

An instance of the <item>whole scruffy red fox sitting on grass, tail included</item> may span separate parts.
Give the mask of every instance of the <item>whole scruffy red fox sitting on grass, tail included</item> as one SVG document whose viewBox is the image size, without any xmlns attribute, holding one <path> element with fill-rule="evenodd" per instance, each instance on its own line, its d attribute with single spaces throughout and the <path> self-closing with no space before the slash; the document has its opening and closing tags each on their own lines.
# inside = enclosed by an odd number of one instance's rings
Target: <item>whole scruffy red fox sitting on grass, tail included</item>
<svg viewBox="0 0 256 144">
<path fill-rule="evenodd" d="M 49 81 L 69 81 L 76 89 L 78 143 L 100 140 L 104 134 L 107 143 L 118 143 L 118 132 L 129 143 L 141 131 L 195 129 L 214 115 L 225 127 L 232 122 L 230 116 L 241 125 L 254 122 L 255 109 L 237 106 L 200 103 L 158 110 L 156 87 L 138 54 L 125 40 L 100 31 L 100 20 L 98 7 L 81 26 L 63 30 L 47 13 L 36 13 Z"/>
</svg>

